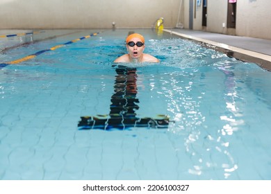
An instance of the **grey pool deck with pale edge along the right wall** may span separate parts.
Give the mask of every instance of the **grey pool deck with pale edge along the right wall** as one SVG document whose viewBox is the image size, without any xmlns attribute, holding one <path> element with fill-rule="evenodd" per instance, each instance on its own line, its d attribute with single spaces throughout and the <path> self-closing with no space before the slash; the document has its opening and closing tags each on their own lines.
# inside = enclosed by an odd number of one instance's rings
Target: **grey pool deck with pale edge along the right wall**
<svg viewBox="0 0 271 194">
<path fill-rule="evenodd" d="M 164 30 L 186 39 L 202 42 L 205 46 L 223 51 L 227 55 L 245 62 L 254 62 L 271 71 L 271 40 L 209 33 L 201 30 L 173 28 Z"/>
</svg>

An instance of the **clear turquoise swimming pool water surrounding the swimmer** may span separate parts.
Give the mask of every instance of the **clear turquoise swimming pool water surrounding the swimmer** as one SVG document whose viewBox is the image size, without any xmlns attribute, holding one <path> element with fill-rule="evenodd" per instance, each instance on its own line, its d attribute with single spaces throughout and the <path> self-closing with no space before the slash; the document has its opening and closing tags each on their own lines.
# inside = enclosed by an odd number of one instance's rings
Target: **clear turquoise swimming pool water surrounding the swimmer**
<svg viewBox="0 0 271 194">
<path fill-rule="evenodd" d="M 271 179 L 270 72 L 135 31 L 160 64 L 113 64 L 129 30 L 0 39 L 0 179 Z"/>
</svg>

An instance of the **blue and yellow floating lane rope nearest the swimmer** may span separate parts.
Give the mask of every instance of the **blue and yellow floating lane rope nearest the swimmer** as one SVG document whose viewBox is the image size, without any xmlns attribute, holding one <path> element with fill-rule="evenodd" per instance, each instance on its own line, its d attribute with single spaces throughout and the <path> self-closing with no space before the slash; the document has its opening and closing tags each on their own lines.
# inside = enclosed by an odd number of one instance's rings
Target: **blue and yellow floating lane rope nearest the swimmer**
<svg viewBox="0 0 271 194">
<path fill-rule="evenodd" d="M 66 42 L 66 43 L 64 43 L 64 44 L 59 44 L 59 45 L 53 46 L 53 47 L 51 47 L 51 48 L 49 48 L 49 49 L 45 49 L 45 50 L 42 50 L 42 51 L 38 51 L 37 53 L 34 53 L 34 54 L 32 54 L 32 55 L 28 55 L 28 56 L 26 56 L 26 57 L 24 57 L 24 58 L 20 58 L 20 59 L 18 59 L 18 60 L 13 60 L 13 61 L 10 61 L 10 62 L 0 63 L 0 69 L 2 69 L 3 67 L 8 66 L 9 64 L 18 64 L 18 63 L 20 63 L 20 62 L 24 62 L 24 61 L 27 61 L 27 60 L 31 60 L 31 59 L 35 58 L 36 56 L 38 56 L 38 55 L 40 55 L 40 54 L 42 54 L 42 53 L 45 53 L 45 52 L 47 52 L 47 51 L 54 51 L 54 50 L 56 50 L 57 48 L 63 47 L 63 46 L 65 46 L 65 45 L 67 45 L 67 44 L 72 44 L 72 43 L 74 43 L 74 42 L 78 42 L 78 41 L 81 40 L 81 39 L 87 39 L 87 38 L 89 38 L 89 37 L 96 36 L 96 35 L 98 35 L 98 34 L 99 34 L 99 33 L 92 33 L 91 35 L 87 35 L 87 36 L 84 36 L 84 37 L 81 37 L 81 38 L 77 38 L 77 39 L 74 39 L 74 40 L 72 40 L 72 41 Z"/>
</svg>

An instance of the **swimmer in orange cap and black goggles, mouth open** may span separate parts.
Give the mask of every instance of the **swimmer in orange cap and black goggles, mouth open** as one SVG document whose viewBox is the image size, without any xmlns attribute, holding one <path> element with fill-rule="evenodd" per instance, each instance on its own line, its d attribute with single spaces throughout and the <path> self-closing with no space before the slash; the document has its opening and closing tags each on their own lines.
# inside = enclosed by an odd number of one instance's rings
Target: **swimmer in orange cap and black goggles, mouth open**
<svg viewBox="0 0 271 194">
<path fill-rule="evenodd" d="M 126 38 L 128 54 L 120 56 L 114 62 L 159 62 L 157 58 L 143 53 L 145 39 L 138 33 L 133 33 Z"/>
</svg>

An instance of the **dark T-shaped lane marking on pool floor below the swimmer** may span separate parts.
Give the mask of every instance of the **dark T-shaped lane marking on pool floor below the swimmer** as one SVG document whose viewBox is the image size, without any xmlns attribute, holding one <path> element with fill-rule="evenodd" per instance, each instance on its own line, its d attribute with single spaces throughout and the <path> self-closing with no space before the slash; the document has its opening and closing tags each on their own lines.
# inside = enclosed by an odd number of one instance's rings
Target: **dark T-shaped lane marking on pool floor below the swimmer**
<svg viewBox="0 0 271 194">
<path fill-rule="evenodd" d="M 167 128 L 170 118 L 159 114 L 156 118 L 139 118 L 136 110 L 139 109 L 139 100 L 136 97 L 136 68 L 119 66 L 115 69 L 115 85 L 111 96 L 110 113 L 108 115 L 81 116 L 78 123 L 79 130 L 125 130 L 130 127 Z"/>
</svg>

